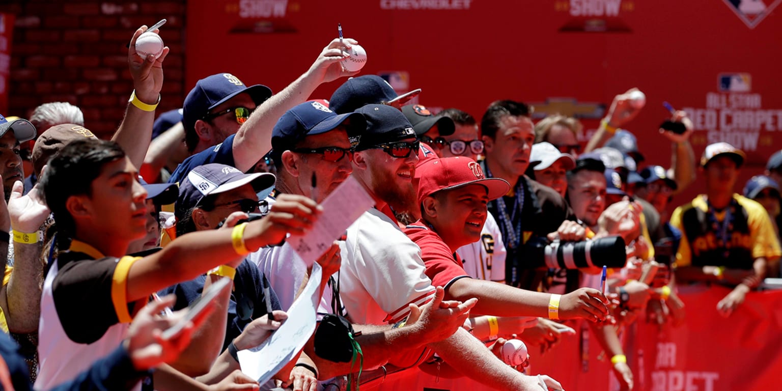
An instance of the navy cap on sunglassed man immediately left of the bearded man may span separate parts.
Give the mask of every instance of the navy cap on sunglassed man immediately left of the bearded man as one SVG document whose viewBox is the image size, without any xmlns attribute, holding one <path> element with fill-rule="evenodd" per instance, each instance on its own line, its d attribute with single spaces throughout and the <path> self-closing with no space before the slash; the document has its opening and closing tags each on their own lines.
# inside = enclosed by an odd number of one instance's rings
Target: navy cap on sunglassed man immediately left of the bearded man
<svg viewBox="0 0 782 391">
<path fill-rule="evenodd" d="M 292 149 L 308 135 L 320 135 L 332 131 L 345 123 L 348 136 L 357 137 L 364 132 L 367 122 L 359 113 L 337 114 L 319 101 L 300 103 L 282 114 L 271 131 L 271 152 L 269 157 L 275 163 L 281 162 L 282 152 Z"/>
</svg>

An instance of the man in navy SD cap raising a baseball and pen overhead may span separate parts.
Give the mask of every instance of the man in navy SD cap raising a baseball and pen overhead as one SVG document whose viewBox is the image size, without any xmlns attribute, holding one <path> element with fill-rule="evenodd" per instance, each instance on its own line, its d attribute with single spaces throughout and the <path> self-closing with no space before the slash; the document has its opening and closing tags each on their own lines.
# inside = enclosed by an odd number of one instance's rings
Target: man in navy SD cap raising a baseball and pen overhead
<svg viewBox="0 0 782 391">
<path fill-rule="evenodd" d="M 213 74 L 195 84 L 185 97 L 182 124 L 185 144 L 192 156 L 169 178 L 182 181 L 206 163 L 221 163 L 247 172 L 271 149 L 271 130 L 279 117 L 309 99 L 315 88 L 340 77 L 353 76 L 340 63 L 350 45 L 358 41 L 335 38 L 326 45 L 310 69 L 272 95 L 264 85 L 246 87 L 232 74 Z"/>
</svg>

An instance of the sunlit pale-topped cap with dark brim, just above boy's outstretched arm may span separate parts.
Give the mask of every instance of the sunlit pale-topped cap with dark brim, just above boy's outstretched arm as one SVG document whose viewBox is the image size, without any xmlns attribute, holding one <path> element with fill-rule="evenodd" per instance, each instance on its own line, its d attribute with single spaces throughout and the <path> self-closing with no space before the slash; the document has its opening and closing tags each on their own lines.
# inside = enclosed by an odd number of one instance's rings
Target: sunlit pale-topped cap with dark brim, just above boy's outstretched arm
<svg viewBox="0 0 782 391">
<path fill-rule="evenodd" d="M 274 186 L 276 177 L 270 173 L 245 174 L 235 167 L 210 163 L 195 167 L 179 184 L 179 196 L 174 207 L 177 220 L 198 205 L 206 195 L 220 194 L 248 183 L 256 192 Z"/>
</svg>

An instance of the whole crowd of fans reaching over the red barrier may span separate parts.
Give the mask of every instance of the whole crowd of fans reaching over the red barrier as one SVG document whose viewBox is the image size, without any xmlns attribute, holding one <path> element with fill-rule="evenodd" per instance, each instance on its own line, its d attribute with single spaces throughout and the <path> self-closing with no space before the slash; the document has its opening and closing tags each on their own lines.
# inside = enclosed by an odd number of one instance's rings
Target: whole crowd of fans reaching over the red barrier
<svg viewBox="0 0 782 391">
<path fill-rule="evenodd" d="M 620 330 L 682 324 L 676 284 L 729 286 L 715 310 L 730 317 L 779 274 L 782 151 L 737 194 L 744 152 L 719 142 L 696 160 L 676 111 L 684 131 L 660 130 L 671 167 L 647 165 L 624 129 L 635 89 L 582 148 L 575 118 L 534 123 L 512 100 L 479 119 L 432 113 L 415 91 L 353 77 L 346 38 L 282 91 L 214 74 L 156 113 L 168 49 L 138 56 L 145 30 L 110 141 L 65 102 L 0 117 L 0 388 L 558 390 L 500 350 L 521 339 L 542 353 L 585 319 L 632 389 Z M 310 96 L 334 81 L 328 100 Z M 696 174 L 704 194 L 669 215 Z M 284 325 L 312 273 L 285 239 L 310 231 L 351 176 L 375 207 L 317 259 L 316 332 L 257 384 L 238 352 Z"/>
</svg>

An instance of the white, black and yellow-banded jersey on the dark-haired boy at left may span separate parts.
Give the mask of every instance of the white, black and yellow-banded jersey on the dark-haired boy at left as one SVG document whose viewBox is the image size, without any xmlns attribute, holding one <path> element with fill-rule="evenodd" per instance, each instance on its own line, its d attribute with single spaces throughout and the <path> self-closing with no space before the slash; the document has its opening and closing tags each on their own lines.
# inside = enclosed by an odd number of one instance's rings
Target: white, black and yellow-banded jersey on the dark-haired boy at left
<svg viewBox="0 0 782 391">
<path fill-rule="evenodd" d="M 78 240 L 57 256 L 41 293 L 35 389 L 74 378 L 120 346 L 131 312 L 146 302 L 127 303 L 127 274 L 138 259 L 103 256 Z M 141 382 L 134 389 L 141 389 Z"/>
</svg>

